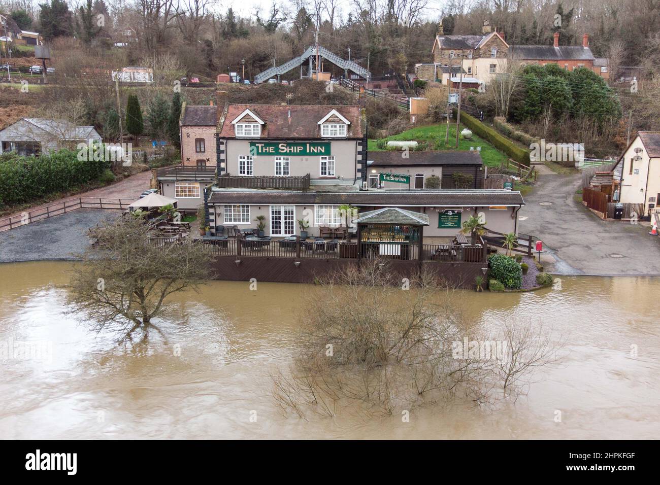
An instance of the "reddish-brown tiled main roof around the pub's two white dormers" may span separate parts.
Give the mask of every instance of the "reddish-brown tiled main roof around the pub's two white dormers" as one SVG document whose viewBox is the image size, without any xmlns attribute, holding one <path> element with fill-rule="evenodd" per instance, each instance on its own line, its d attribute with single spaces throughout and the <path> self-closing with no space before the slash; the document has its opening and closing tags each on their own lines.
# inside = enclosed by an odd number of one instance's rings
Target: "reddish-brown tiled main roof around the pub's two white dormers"
<svg viewBox="0 0 660 485">
<path fill-rule="evenodd" d="M 261 118 L 265 125 L 261 127 L 261 138 L 321 138 L 321 129 L 317 124 L 327 113 L 337 110 L 350 121 L 347 138 L 362 138 L 360 125 L 360 106 L 319 105 L 280 105 L 280 104 L 230 104 L 220 127 L 220 137 L 234 137 L 232 121 L 245 110 L 250 110 Z M 288 113 L 291 112 L 289 117 Z"/>
</svg>

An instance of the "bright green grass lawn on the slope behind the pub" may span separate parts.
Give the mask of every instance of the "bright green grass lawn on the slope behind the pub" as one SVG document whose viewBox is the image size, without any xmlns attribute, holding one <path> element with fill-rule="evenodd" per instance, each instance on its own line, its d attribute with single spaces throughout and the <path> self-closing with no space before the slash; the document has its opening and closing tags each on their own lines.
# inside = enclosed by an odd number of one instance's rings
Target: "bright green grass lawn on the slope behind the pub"
<svg viewBox="0 0 660 485">
<path fill-rule="evenodd" d="M 465 125 L 459 127 L 459 132 L 465 128 Z M 445 123 L 438 123 L 435 125 L 424 125 L 411 128 L 399 135 L 392 135 L 391 137 L 385 138 L 386 141 L 395 140 L 395 141 L 424 141 L 428 143 L 429 150 L 455 150 L 454 146 L 456 143 L 456 124 L 449 125 L 449 141 L 445 145 L 445 133 L 447 125 Z M 368 141 L 368 150 L 370 152 L 381 152 L 380 148 L 376 146 L 377 140 Z M 481 159 L 484 161 L 484 165 L 487 167 L 499 167 L 502 162 L 506 162 L 506 154 L 500 152 L 497 148 L 490 145 L 484 139 L 477 137 L 473 133 L 471 140 L 463 140 L 459 138 L 458 141 L 458 150 L 469 150 L 471 146 L 474 146 L 475 149 L 477 146 L 481 147 Z"/>
</svg>

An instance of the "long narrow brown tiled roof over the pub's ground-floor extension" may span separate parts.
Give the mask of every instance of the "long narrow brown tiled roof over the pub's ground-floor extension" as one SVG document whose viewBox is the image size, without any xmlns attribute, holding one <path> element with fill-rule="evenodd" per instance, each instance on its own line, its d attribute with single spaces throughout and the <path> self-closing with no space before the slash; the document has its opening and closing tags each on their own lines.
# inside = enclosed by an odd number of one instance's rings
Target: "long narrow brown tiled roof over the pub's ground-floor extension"
<svg viewBox="0 0 660 485">
<path fill-rule="evenodd" d="M 409 191 L 359 191 L 349 193 L 292 191 L 213 191 L 211 204 L 352 204 L 389 206 L 488 206 L 524 205 L 519 192 L 492 189 L 418 189 Z"/>
</svg>

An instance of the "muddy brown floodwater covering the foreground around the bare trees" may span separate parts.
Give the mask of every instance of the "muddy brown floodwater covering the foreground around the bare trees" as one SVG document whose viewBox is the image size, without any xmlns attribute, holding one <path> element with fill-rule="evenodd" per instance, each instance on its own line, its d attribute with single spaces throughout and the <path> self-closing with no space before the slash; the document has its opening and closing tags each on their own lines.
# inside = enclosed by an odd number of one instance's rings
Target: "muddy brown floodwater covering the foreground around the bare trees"
<svg viewBox="0 0 660 485">
<path fill-rule="evenodd" d="M 168 342 L 117 346 L 64 306 L 71 263 L 0 265 L 1 438 L 657 438 L 660 279 L 562 278 L 519 294 L 457 292 L 484 326 L 566 340 L 518 401 L 423 406 L 365 420 L 281 415 L 269 373 L 294 356 L 308 286 L 211 282 L 172 301 Z M 189 315 L 182 321 L 182 308 Z M 561 412 L 561 421 L 556 416 Z M 256 420 L 254 417 L 256 416 Z M 252 417 L 252 419 L 251 419 Z"/>
</svg>

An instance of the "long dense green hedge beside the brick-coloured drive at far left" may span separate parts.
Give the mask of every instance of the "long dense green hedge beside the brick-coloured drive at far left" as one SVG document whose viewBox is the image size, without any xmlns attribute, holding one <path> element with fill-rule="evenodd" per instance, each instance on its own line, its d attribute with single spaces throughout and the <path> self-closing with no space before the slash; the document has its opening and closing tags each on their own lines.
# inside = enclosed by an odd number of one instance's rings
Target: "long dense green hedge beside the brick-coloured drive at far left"
<svg viewBox="0 0 660 485">
<path fill-rule="evenodd" d="M 78 160 L 73 150 L 41 156 L 0 156 L 0 207 L 27 203 L 98 179 L 110 162 Z"/>
</svg>

